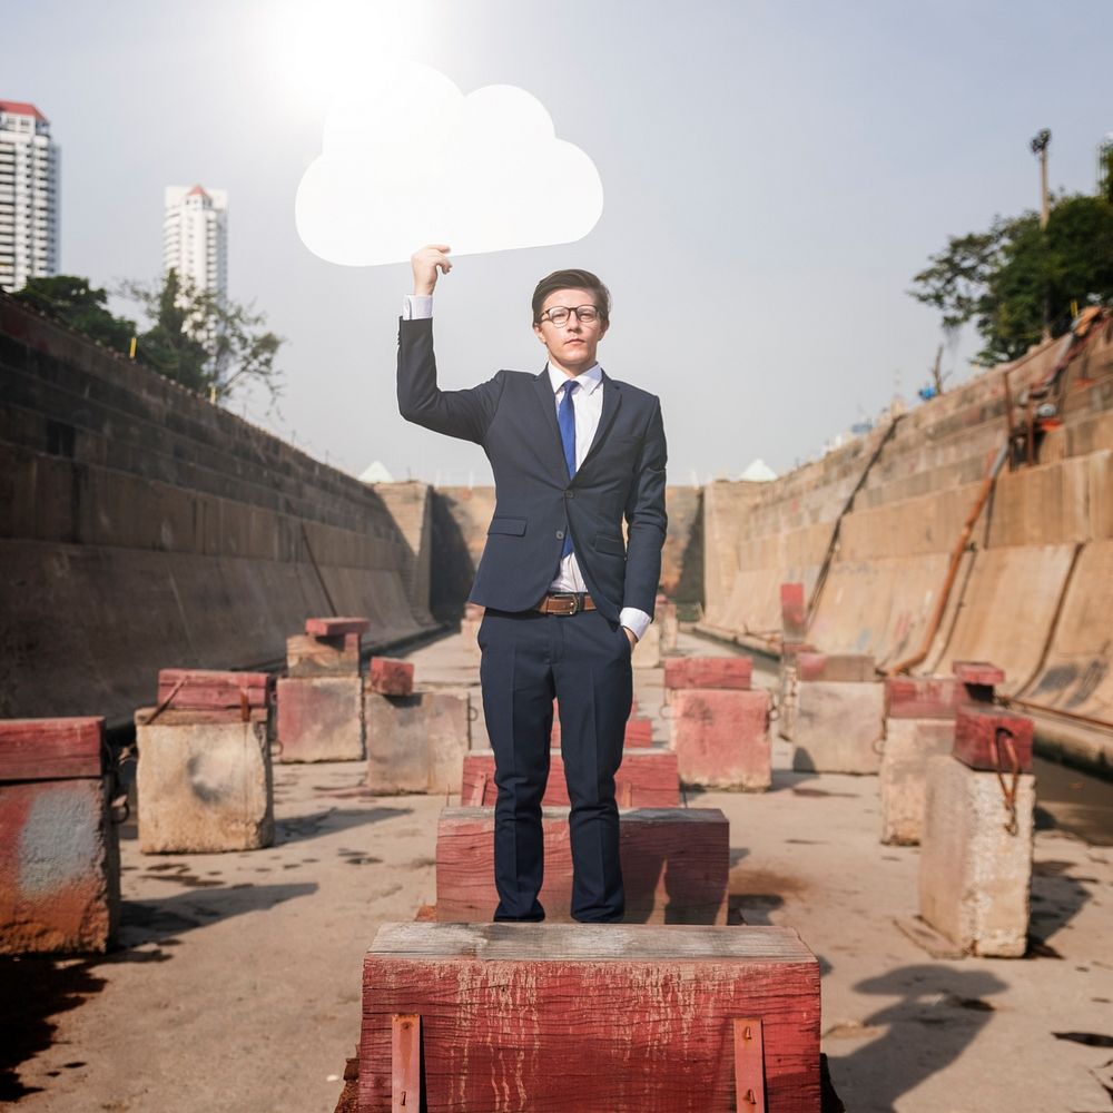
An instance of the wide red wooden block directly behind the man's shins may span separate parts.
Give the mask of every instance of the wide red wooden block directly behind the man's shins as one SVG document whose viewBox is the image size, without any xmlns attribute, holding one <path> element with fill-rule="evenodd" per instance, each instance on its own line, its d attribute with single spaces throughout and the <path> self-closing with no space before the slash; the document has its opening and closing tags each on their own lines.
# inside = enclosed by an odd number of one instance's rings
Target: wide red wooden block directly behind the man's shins
<svg viewBox="0 0 1113 1113">
<path fill-rule="evenodd" d="M 549 923 L 568 923 L 572 904 L 569 814 L 546 808 L 545 880 Z M 638 808 L 621 814 L 619 853 L 627 924 L 726 924 L 730 825 L 717 808 Z M 436 830 L 436 916 L 489 920 L 494 887 L 494 811 L 445 808 Z"/>
</svg>

